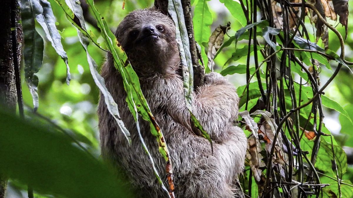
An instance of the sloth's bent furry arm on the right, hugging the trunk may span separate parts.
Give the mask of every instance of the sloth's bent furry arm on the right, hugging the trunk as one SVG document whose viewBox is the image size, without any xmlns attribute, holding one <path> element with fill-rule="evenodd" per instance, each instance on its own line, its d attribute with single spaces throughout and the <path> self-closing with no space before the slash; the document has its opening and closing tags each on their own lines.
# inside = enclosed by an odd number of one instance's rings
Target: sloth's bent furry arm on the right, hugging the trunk
<svg viewBox="0 0 353 198">
<path fill-rule="evenodd" d="M 213 140 L 223 141 L 229 137 L 228 129 L 238 116 L 238 103 L 234 86 L 220 74 L 212 72 L 205 76 L 205 85 L 194 95 L 192 112 Z M 174 90 L 167 104 L 168 114 L 176 122 L 200 135 L 186 109 L 183 92 Z"/>
</svg>

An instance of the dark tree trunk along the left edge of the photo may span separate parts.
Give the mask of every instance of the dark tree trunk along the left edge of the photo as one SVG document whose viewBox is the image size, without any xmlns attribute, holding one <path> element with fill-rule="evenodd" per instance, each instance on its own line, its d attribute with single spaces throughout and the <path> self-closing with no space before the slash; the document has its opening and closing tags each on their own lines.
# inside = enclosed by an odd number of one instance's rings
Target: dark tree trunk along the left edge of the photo
<svg viewBox="0 0 353 198">
<path fill-rule="evenodd" d="M 19 19 L 17 1 L 2 1 L 0 6 L 0 108 L 2 111 L 7 110 L 12 113 L 16 113 L 15 67 L 19 66 L 21 60 L 23 38 L 22 27 L 18 23 Z M 0 178 L 0 198 L 5 197 L 6 185 L 7 179 Z"/>
</svg>

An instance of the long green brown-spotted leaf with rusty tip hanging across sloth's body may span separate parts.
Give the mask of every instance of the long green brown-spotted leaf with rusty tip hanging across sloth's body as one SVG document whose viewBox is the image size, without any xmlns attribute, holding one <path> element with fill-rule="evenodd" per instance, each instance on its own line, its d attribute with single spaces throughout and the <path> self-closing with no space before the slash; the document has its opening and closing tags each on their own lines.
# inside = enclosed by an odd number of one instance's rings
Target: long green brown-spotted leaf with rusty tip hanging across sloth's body
<svg viewBox="0 0 353 198">
<path fill-rule="evenodd" d="M 137 112 L 138 112 L 143 119 L 149 122 L 151 133 L 157 139 L 159 151 L 167 162 L 166 172 L 167 172 L 167 179 L 169 183 L 169 192 L 166 189 L 166 187 L 163 185 L 162 180 L 160 179 L 158 173 L 156 172 L 156 169 L 154 169 L 154 171 L 158 181 L 160 181 L 162 185 L 162 188 L 169 193 L 170 197 L 174 197 L 173 169 L 172 169 L 172 163 L 169 158 L 169 151 L 168 151 L 166 142 L 164 140 L 162 131 L 160 130 L 160 127 L 156 123 L 155 118 L 152 115 L 151 110 L 147 104 L 147 101 L 144 98 L 144 95 L 142 94 L 138 76 L 134 72 L 130 64 L 128 64 L 127 66 L 124 66 L 121 59 L 118 57 L 118 54 L 117 54 L 117 51 L 119 51 L 118 41 L 116 40 L 113 32 L 109 29 L 104 18 L 96 10 L 93 1 L 86 0 L 86 2 L 90 6 L 91 10 L 94 13 L 95 18 L 97 19 L 97 25 L 101 29 L 101 35 L 106 41 L 107 48 L 113 55 L 114 65 L 122 75 L 124 88 L 127 93 L 126 101 L 128 103 L 128 107 L 132 115 L 134 116 L 134 119 L 136 120 L 137 126 L 138 126 L 138 116 L 137 116 Z M 149 154 L 149 152 L 147 152 L 148 151 L 147 148 L 144 147 L 144 149 L 146 150 L 146 153 Z M 151 157 L 150 159 L 151 159 L 152 166 L 154 166 L 154 162 Z"/>
</svg>

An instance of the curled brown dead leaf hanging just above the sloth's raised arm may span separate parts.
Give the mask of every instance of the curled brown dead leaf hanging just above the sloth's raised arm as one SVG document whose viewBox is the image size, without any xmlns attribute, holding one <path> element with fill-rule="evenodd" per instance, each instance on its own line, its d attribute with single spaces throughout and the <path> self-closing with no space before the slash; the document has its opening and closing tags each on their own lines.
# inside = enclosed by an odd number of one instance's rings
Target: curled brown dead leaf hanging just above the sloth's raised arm
<svg viewBox="0 0 353 198">
<path fill-rule="evenodd" d="M 210 40 L 208 42 L 208 51 L 207 51 L 207 57 L 208 57 L 207 66 L 208 68 L 211 69 L 211 71 L 213 71 L 213 67 L 215 65 L 213 61 L 215 54 L 223 44 L 224 35 L 231 28 L 230 26 L 231 26 L 231 22 L 228 22 L 227 25 L 225 26 L 220 25 L 219 27 L 216 27 L 215 31 L 213 31 L 210 36 Z"/>
</svg>

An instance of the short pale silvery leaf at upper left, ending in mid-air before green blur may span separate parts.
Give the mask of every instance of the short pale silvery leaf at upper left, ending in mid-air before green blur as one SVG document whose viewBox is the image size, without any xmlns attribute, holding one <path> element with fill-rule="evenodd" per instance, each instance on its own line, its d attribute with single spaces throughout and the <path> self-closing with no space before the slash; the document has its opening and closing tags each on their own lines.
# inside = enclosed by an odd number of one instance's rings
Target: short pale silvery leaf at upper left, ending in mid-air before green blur
<svg viewBox="0 0 353 198">
<path fill-rule="evenodd" d="M 52 7 L 50 6 L 50 3 L 46 0 L 40 0 L 40 4 L 43 7 L 43 13 L 38 14 L 36 19 L 38 23 L 42 26 L 44 32 L 46 33 L 48 41 L 50 41 L 56 53 L 61 56 L 61 59 L 66 64 L 66 83 L 68 85 L 70 84 L 71 80 L 70 67 L 68 66 L 67 54 L 61 44 L 61 36 L 55 26 L 55 17 L 52 11 Z"/>
</svg>

